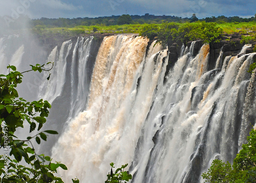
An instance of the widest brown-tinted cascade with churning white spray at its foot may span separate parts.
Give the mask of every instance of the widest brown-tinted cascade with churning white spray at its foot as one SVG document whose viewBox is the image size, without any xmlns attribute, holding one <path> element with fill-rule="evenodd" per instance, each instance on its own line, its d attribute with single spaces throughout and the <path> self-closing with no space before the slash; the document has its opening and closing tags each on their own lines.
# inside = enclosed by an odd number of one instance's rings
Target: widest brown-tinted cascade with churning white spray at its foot
<svg viewBox="0 0 256 183">
<path fill-rule="evenodd" d="M 67 179 L 76 174 L 82 182 L 102 182 L 110 161 L 132 163 L 140 127 L 150 110 L 159 77 L 163 80 L 162 67 L 167 64 L 162 63 L 167 51 L 159 52 L 159 45 L 152 47 L 145 58 L 147 41 L 134 36 L 104 38 L 93 70 L 87 109 L 70 121 L 53 149 L 53 157 L 70 167 Z M 138 92 L 137 87 L 141 88 Z M 73 133 L 76 135 L 71 136 Z M 82 161 L 78 158 L 81 155 Z"/>
</svg>

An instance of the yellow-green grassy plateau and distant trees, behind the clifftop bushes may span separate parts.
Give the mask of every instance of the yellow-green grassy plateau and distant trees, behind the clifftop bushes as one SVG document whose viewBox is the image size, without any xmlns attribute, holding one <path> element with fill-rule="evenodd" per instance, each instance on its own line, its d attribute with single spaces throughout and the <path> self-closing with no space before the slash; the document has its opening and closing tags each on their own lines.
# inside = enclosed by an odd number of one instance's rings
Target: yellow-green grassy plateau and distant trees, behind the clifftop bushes
<svg viewBox="0 0 256 183">
<path fill-rule="evenodd" d="M 81 34 L 120 34 L 120 33 L 140 33 L 147 24 L 161 24 L 162 22 L 175 22 L 179 24 L 205 21 L 215 22 L 218 27 L 223 29 L 224 33 L 231 34 L 240 32 L 246 34 L 256 30 L 256 14 L 251 18 L 241 18 L 239 16 L 212 16 L 198 19 L 196 14 L 190 18 L 181 18 L 177 16 L 155 16 L 146 13 L 145 15 L 121 15 L 121 16 L 104 16 L 104 17 L 78 17 L 78 18 L 40 18 L 30 19 L 27 16 L 19 16 L 15 22 L 8 24 L 8 31 L 0 30 L 1 34 L 10 33 L 24 28 L 24 22 L 28 22 L 29 28 L 37 36 L 77 36 Z M 4 17 L 0 17 L 0 24 L 7 26 Z"/>
</svg>

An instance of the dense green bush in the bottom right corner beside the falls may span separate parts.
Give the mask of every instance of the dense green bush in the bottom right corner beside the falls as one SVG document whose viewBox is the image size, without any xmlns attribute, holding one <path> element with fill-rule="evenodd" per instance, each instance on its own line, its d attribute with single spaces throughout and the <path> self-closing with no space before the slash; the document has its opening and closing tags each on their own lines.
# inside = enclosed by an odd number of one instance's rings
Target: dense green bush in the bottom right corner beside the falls
<svg viewBox="0 0 256 183">
<path fill-rule="evenodd" d="M 247 141 L 232 166 L 221 160 L 212 161 L 208 171 L 202 174 L 205 182 L 256 182 L 256 130 L 251 130 Z"/>
</svg>

